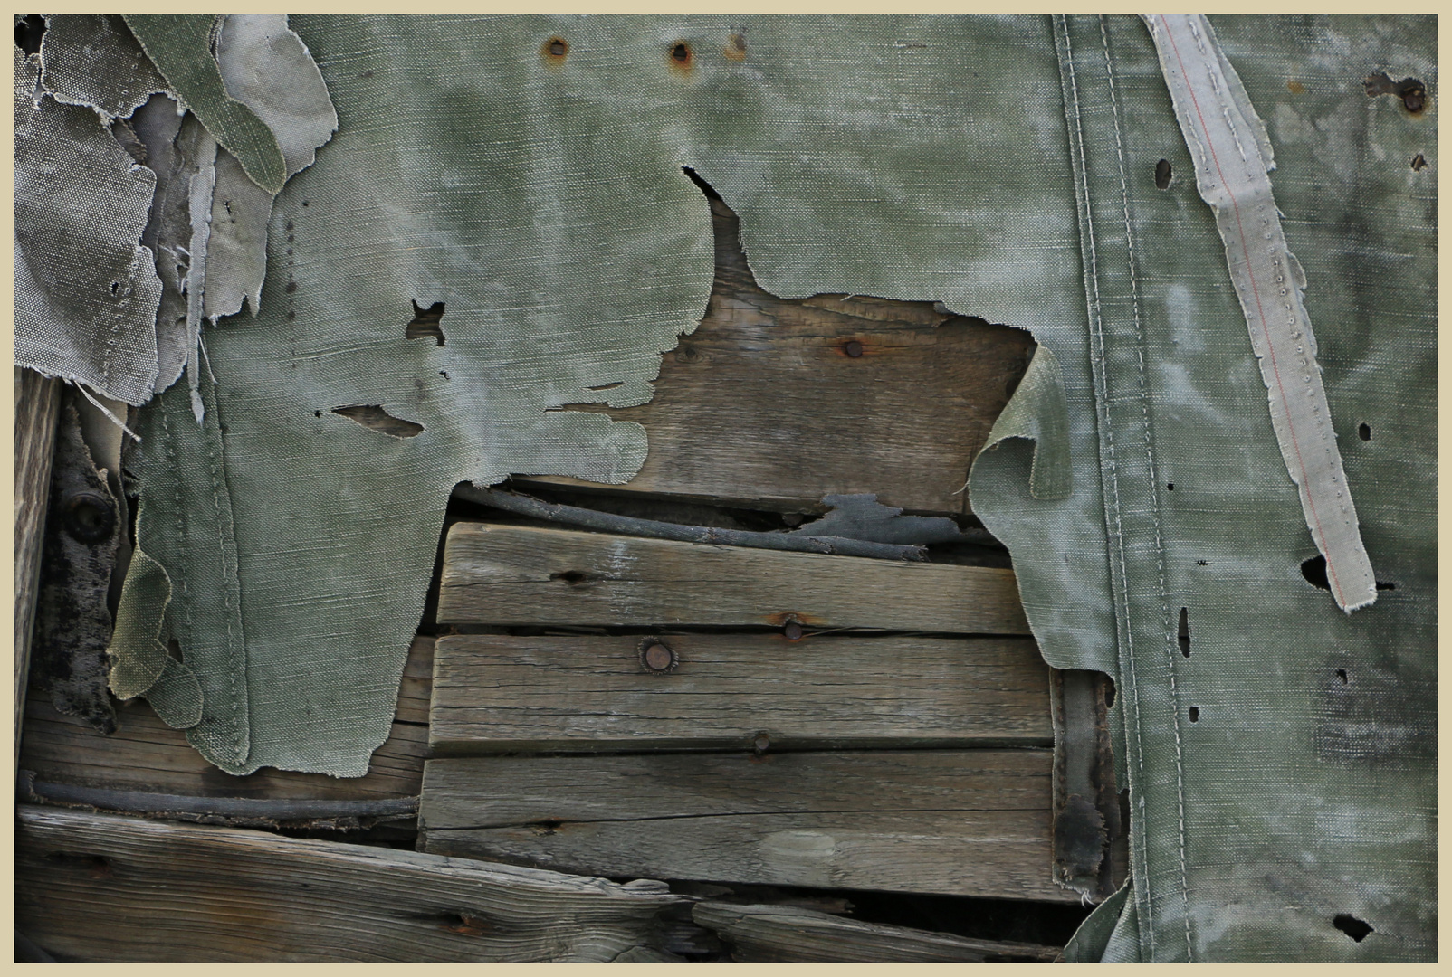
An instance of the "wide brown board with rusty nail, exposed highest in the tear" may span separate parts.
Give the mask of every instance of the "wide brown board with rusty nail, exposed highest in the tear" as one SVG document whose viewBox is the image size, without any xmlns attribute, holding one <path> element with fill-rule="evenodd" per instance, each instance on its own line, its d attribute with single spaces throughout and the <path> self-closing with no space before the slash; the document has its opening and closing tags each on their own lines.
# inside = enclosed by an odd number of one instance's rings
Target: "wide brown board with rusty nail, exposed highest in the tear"
<svg viewBox="0 0 1452 977">
<path fill-rule="evenodd" d="M 650 450 L 626 488 L 787 510 L 877 492 L 913 511 L 967 511 L 960 489 L 1024 375 L 1029 335 L 937 311 L 935 296 L 780 299 L 752 277 L 736 216 L 719 200 L 711 213 L 710 305 L 664 357 L 655 398 L 569 408 L 645 425 Z"/>
</svg>

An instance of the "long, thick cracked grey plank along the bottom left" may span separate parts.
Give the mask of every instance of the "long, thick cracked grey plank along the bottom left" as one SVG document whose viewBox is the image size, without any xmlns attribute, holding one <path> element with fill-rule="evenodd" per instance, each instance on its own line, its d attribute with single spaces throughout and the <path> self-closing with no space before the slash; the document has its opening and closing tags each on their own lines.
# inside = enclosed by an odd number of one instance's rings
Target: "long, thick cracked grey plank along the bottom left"
<svg viewBox="0 0 1452 977">
<path fill-rule="evenodd" d="M 604 961 L 662 883 L 22 806 L 16 926 L 93 961 Z"/>
</svg>

